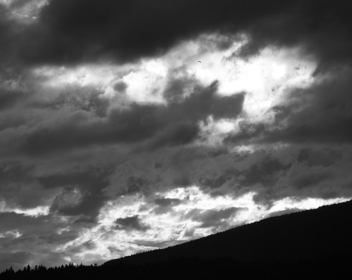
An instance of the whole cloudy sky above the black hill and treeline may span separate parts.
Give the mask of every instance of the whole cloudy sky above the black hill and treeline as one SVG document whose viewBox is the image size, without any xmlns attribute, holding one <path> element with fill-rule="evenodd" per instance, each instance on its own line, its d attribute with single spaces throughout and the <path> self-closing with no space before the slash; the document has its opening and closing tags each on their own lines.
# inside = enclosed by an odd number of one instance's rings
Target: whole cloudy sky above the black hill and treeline
<svg viewBox="0 0 352 280">
<path fill-rule="evenodd" d="M 351 34 L 342 0 L 0 0 L 0 270 L 350 200 Z"/>
</svg>

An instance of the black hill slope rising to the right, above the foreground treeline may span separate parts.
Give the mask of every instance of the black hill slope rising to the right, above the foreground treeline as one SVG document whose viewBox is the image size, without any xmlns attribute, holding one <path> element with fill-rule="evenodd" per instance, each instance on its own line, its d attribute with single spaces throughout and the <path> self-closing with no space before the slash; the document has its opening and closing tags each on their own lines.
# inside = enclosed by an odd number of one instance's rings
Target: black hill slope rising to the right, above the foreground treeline
<svg viewBox="0 0 352 280">
<path fill-rule="evenodd" d="M 352 201 L 267 218 L 173 247 L 110 260 L 128 264 L 170 258 L 231 257 L 249 262 L 313 260 L 352 254 Z"/>
</svg>

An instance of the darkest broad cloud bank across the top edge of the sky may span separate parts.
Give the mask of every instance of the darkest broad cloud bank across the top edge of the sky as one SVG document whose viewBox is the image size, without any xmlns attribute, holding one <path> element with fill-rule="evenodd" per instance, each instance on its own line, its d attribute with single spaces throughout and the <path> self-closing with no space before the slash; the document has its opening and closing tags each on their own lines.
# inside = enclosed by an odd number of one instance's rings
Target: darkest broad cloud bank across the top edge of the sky
<svg viewBox="0 0 352 280">
<path fill-rule="evenodd" d="M 319 58 L 320 69 L 327 69 L 351 62 L 348 11 L 342 0 L 51 0 L 22 28 L 9 27 L 7 8 L 1 6 L 0 30 L 9 57 L 36 64 L 134 60 L 218 31 L 247 33 L 244 56 L 266 45 L 303 45 Z"/>
</svg>

